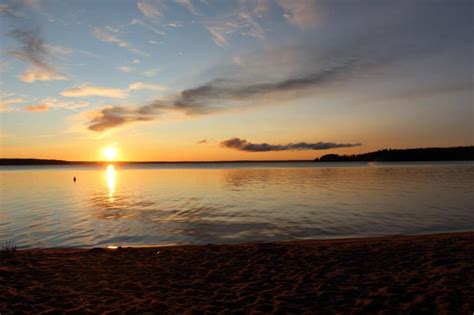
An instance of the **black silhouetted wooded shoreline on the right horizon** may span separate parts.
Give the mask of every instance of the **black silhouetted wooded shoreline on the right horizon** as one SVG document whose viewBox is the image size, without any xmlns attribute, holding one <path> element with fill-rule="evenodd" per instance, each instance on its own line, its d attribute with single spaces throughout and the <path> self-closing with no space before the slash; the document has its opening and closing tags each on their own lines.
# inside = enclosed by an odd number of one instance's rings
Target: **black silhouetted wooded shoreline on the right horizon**
<svg viewBox="0 0 474 315">
<path fill-rule="evenodd" d="M 449 148 L 384 149 L 375 152 L 338 155 L 326 154 L 317 162 L 399 162 L 399 161 L 472 161 L 474 146 Z"/>
</svg>

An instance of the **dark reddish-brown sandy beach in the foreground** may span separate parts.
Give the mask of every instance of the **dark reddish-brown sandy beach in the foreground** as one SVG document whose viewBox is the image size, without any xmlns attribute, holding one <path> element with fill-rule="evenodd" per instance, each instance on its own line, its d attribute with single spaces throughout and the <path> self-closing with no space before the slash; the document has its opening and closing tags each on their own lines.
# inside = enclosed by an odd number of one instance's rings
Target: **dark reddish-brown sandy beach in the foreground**
<svg viewBox="0 0 474 315">
<path fill-rule="evenodd" d="M 0 254 L 0 313 L 474 311 L 474 233 Z"/>
</svg>

